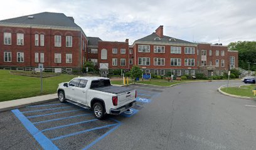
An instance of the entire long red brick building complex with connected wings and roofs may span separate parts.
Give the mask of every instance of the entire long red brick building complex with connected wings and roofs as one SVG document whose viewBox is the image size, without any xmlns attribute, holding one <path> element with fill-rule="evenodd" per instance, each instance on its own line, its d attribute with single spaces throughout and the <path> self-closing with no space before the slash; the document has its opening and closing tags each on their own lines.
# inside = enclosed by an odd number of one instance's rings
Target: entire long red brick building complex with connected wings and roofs
<svg viewBox="0 0 256 150">
<path fill-rule="evenodd" d="M 101 73 L 129 70 L 138 65 L 144 73 L 176 76 L 197 72 L 221 74 L 238 67 L 238 52 L 221 44 L 195 43 L 164 36 L 163 26 L 134 41 L 102 41 L 87 37 L 73 17 L 42 12 L 0 21 L 0 68 L 29 70 L 81 69 L 92 61 Z"/>
</svg>

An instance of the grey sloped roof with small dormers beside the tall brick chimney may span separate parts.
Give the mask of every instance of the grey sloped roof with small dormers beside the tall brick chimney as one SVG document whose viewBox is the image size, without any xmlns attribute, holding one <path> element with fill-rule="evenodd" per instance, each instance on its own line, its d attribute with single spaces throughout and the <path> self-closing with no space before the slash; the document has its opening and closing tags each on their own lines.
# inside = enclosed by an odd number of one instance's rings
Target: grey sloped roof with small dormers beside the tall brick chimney
<svg viewBox="0 0 256 150">
<path fill-rule="evenodd" d="M 160 40 L 159 40 L 160 38 Z M 159 37 L 156 32 L 153 32 L 152 34 L 142 37 L 141 39 L 137 39 L 135 42 L 169 42 L 169 43 L 183 43 L 183 44 L 194 44 L 193 42 L 184 41 L 182 39 L 176 39 L 174 37 L 169 36 L 163 36 Z"/>
</svg>

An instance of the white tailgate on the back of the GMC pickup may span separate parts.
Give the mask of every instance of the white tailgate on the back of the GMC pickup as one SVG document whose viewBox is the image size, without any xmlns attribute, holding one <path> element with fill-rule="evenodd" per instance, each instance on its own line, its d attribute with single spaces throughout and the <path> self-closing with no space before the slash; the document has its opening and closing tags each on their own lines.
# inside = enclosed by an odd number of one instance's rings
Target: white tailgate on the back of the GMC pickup
<svg viewBox="0 0 256 150">
<path fill-rule="evenodd" d="M 121 93 L 118 96 L 118 106 L 123 106 L 128 102 L 131 102 L 131 100 L 135 101 L 135 95 L 136 95 L 136 90 L 131 90 L 129 92 Z"/>
</svg>

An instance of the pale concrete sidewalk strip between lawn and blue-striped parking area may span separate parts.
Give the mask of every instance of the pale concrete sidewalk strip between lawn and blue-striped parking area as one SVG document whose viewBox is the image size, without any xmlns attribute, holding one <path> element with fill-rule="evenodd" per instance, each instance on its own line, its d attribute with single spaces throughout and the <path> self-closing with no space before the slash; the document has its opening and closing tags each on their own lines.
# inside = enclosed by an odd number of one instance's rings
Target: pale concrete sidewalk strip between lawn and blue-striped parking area
<svg viewBox="0 0 256 150">
<path fill-rule="evenodd" d="M 48 101 L 53 101 L 56 98 L 58 98 L 58 96 L 55 93 L 55 94 L 49 94 L 44 96 L 36 96 L 32 98 L 23 98 L 23 99 L 16 99 L 12 101 L 4 101 L 0 103 L 0 112 L 8 111 L 16 108 L 23 108 L 29 105 L 46 103 Z"/>
</svg>

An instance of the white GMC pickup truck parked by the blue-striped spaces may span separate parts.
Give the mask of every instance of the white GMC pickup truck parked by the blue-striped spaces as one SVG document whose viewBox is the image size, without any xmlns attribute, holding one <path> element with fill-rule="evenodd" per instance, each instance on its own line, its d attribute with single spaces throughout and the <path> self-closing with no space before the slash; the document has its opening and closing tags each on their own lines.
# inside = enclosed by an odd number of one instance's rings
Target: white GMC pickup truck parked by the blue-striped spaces
<svg viewBox="0 0 256 150">
<path fill-rule="evenodd" d="M 86 109 L 92 109 L 95 118 L 105 114 L 120 114 L 136 106 L 136 90 L 112 86 L 109 78 L 78 77 L 69 83 L 60 83 L 58 99 Z"/>
</svg>

